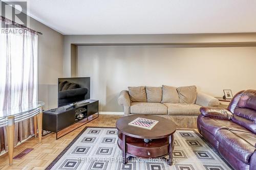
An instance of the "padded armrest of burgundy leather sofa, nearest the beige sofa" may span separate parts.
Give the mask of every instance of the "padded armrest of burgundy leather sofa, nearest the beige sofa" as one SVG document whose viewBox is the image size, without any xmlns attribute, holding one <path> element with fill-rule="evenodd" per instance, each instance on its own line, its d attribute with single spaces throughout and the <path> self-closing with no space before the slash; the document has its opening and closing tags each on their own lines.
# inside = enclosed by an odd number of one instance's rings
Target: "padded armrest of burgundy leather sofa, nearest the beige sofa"
<svg viewBox="0 0 256 170">
<path fill-rule="evenodd" d="M 220 107 L 201 107 L 200 112 L 206 117 L 223 120 L 231 120 L 233 116 L 229 110 Z"/>
</svg>

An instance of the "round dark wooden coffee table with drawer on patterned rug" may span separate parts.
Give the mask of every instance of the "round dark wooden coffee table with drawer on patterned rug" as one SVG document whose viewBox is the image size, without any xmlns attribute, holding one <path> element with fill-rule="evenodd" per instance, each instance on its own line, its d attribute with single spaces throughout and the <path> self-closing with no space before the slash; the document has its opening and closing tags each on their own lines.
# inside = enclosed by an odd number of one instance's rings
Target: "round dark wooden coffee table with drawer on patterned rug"
<svg viewBox="0 0 256 170">
<path fill-rule="evenodd" d="M 143 129 L 128 125 L 137 117 L 158 120 L 151 129 Z M 119 118 L 116 122 L 118 130 L 118 147 L 122 150 L 123 163 L 126 164 L 132 157 L 164 158 L 169 165 L 173 164 L 174 133 L 176 125 L 167 118 L 154 115 L 130 115 Z M 146 143 L 143 139 L 152 139 Z"/>
</svg>

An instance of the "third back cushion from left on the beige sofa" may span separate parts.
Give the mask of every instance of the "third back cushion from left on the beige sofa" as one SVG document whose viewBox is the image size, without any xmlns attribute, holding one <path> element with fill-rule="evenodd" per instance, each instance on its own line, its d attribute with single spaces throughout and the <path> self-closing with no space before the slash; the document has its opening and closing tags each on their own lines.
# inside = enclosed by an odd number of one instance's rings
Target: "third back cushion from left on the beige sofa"
<svg viewBox="0 0 256 170">
<path fill-rule="evenodd" d="M 162 85 L 162 91 L 161 103 L 179 103 L 179 95 L 176 87 Z"/>
</svg>

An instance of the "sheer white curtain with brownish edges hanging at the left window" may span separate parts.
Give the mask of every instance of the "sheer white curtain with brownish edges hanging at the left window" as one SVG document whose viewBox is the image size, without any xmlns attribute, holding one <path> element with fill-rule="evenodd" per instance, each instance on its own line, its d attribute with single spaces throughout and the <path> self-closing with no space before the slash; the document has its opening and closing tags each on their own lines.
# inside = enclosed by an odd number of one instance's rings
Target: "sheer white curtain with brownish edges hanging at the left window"
<svg viewBox="0 0 256 170">
<path fill-rule="evenodd" d="M 8 110 L 37 100 L 38 36 L 2 16 L 1 22 L 8 23 L 8 27 L 1 28 L 0 33 L 0 110 Z M 15 124 L 15 144 L 33 133 L 32 119 Z M 0 151 L 6 150 L 5 141 L 6 130 L 2 128 Z"/>
</svg>

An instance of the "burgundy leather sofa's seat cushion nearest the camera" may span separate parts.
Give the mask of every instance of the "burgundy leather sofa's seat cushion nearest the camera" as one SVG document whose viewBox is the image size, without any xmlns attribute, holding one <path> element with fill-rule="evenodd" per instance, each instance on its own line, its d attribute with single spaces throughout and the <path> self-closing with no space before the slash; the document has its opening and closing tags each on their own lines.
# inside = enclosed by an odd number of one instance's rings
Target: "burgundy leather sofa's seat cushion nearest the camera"
<svg viewBox="0 0 256 170">
<path fill-rule="evenodd" d="M 226 152 L 232 151 L 234 157 L 244 163 L 249 163 L 250 157 L 255 151 L 255 147 L 249 142 L 226 129 L 219 130 L 216 133 L 216 139 Z"/>
</svg>

